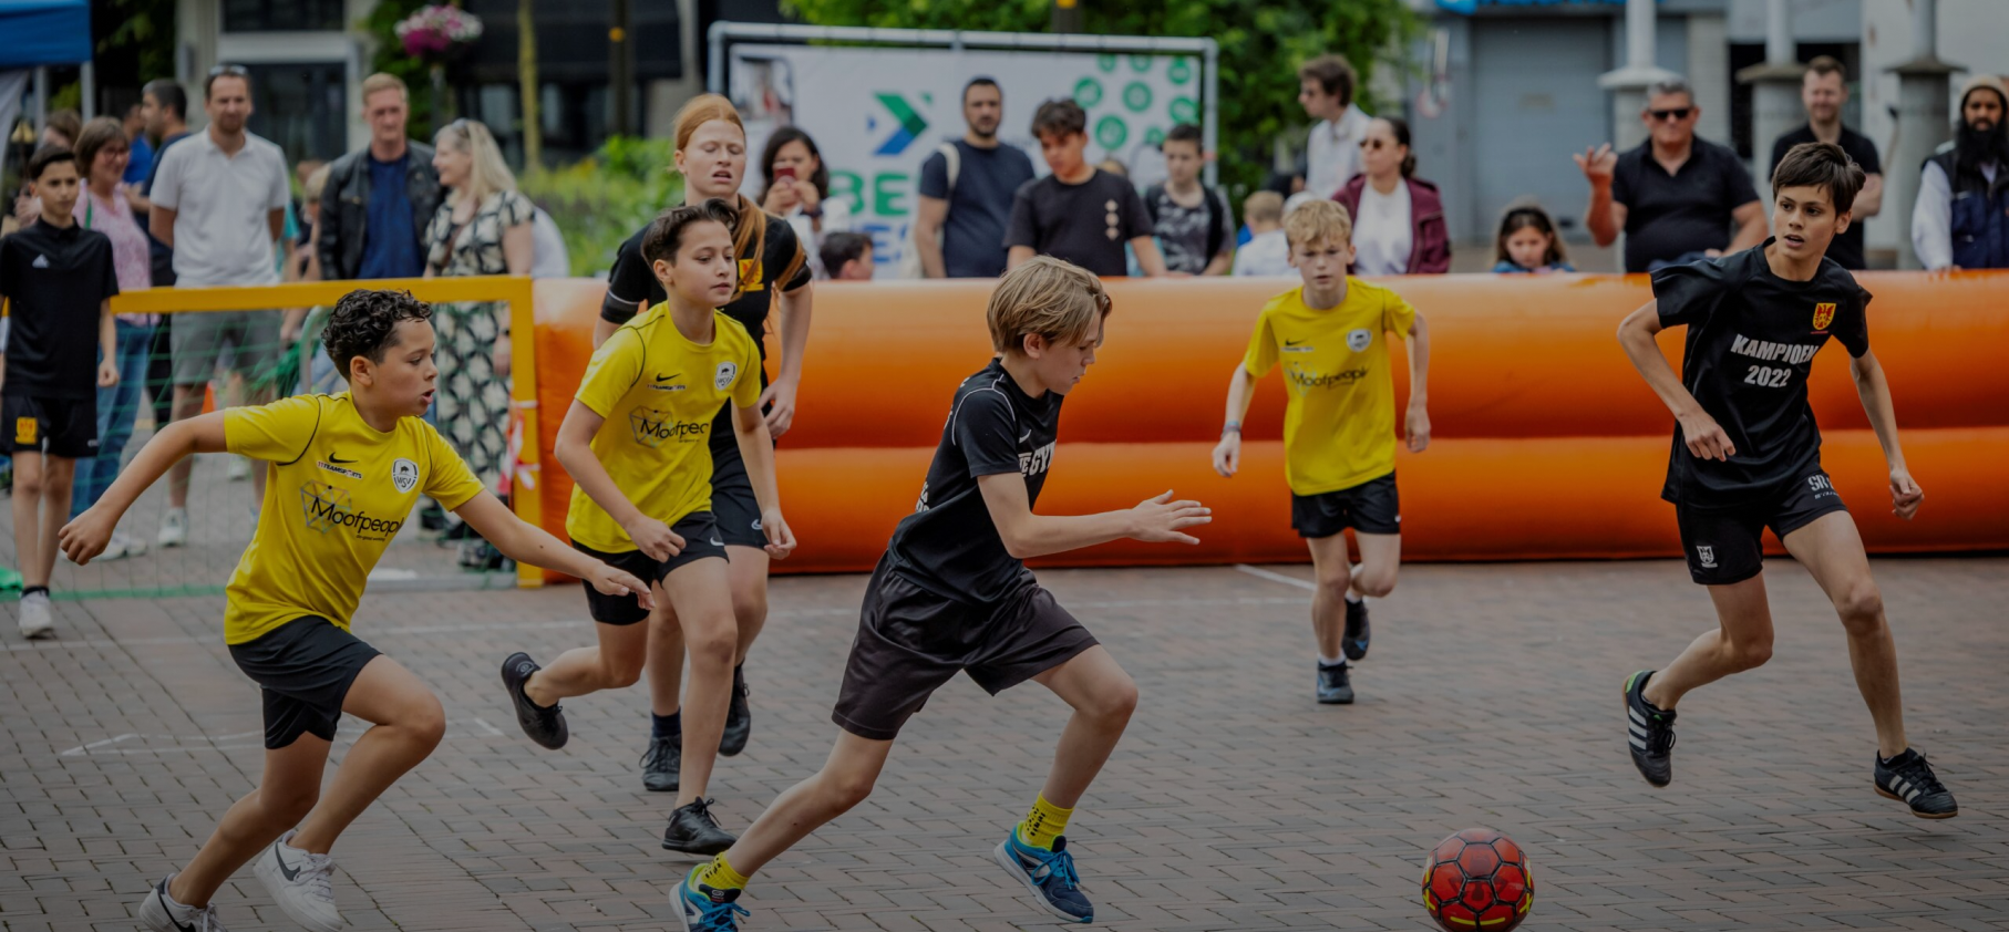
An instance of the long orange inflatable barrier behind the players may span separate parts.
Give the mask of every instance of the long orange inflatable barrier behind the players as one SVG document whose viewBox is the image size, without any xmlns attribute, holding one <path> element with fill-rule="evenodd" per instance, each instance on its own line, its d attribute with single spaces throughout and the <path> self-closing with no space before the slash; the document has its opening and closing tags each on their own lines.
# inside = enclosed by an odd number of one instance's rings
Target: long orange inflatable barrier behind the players
<svg viewBox="0 0 2009 932">
<path fill-rule="evenodd" d="M 1890 376 L 1905 452 L 1927 492 L 1890 516 L 1882 456 L 1840 347 L 1814 362 L 1824 462 L 1872 550 L 2009 546 L 2009 273 L 1864 273 L 1870 347 Z M 1619 352 L 1643 275 L 1392 279 L 1430 323 L 1432 444 L 1396 462 L 1404 558 L 1673 556 L 1659 484 L 1673 420 Z M 777 570 L 868 570 L 914 508 L 956 384 L 990 356 L 990 281 L 818 283 L 782 500 L 802 548 Z M 1304 560 L 1282 466 L 1284 390 L 1266 378 L 1242 474 L 1207 454 L 1227 378 L 1280 279 L 1111 281 L 1097 366 L 1067 400 L 1043 512 L 1095 512 L 1177 490 L 1213 506 L 1201 546 L 1115 542 L 1065 564 Z M 563 534 L 571 482 L 550 438 L 591 358 L 605 283 L 536 283 L 544 524 Z M 1808 307 L 1812 315 L 1812 307 Z M 1812 327 L 1810 327 L 1812 329 Z M 1682 335 L 1661 337 L 1680 364 Z M 779 350 L 769 335 L 771 352 Z M 1398 345 L 1398 343 L 1396 343 Z M 1398 404 L 1406 366 L 1394 362 Z"/>
</svg>

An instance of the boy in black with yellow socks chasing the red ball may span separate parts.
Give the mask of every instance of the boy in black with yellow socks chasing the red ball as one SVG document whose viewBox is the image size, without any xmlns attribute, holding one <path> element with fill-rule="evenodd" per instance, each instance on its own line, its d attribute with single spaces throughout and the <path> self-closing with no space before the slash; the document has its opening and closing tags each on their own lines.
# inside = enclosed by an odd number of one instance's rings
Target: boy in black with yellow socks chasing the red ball
<svg viewBox="0 0 2009 932">
<path fill-rule="evenodd" d="M 838 745 L 731 850 L 677 884 L 669 900 L 685 932 L 737 928 L 747 878 L 864 801 L 900 725 L 960 671 L 990 693 L 1033 679 L 1075 709 L 1033 811 L 992 856 L 1043 910 L 1093 918 L 1061 832 L 1123 735 L 1137 685 L 1021 560 L 1119 538 L 1195 544 L 1183 530 L 1209 520 L 1171 492 L 1119 512 L 1033 514 L 1061 400 L 1095 362 L 1107 315 L 1101 281 L 1059 259 L 1029 259 L 998 281 L 988 311 L 998 356 L 956 390 L 920 502 L 866 589 L 832 711 Z"/>
</svg>

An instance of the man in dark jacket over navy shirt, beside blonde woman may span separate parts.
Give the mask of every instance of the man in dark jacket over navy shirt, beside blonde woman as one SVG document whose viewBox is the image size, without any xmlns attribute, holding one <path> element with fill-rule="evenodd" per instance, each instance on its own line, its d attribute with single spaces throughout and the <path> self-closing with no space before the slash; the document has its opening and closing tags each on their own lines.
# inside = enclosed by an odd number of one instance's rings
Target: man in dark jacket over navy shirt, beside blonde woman
<svg viewBox="0 0 2009 932">
<path fill-rule="evenodd" d="M 426 271 L 420 235 L 440 209 L 440 173 L 432 147 L 404 137 L 404 80 L 372 74 L 362 90 L 370 147 L 336 159 L 327 171 L 315 241 L 321 277 L 418 277 Z"/>
</svg>

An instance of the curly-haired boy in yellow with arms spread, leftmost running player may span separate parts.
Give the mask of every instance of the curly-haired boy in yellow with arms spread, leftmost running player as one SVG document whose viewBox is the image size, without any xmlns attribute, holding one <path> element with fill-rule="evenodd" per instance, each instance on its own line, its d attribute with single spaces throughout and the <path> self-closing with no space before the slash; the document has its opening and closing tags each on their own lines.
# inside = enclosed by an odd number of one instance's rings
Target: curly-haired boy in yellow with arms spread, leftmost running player
<svg viewBox="0 0 2009 932">
<path fill-rule="evenodd" d="M 420 496 L 452 508 L 520 562 L 577 574 L 609 595 L 647 593 L 633 574 L 510 514 L 420 420 L 440 376 L 430 315 L 408 293 L 350 291 L 323 337 L 350 392 L 169 424 L 98 504 L 62 528 L 62 552 L 82 564 L 104 552 L 133 500 L 189 454 L 271 464 L 257 532 L 225 589 L 223 613 L 231 659 L 265 693 L 265 777 L 231 805 L 187 868 L 147 892 L 139 920 L 149 930 L 221 932 L 211 896 L 253 858 L 253 872 L 293 922 L 342 928 L 329 848 L 446 731 L 440 699 L 350 633 L 370 568 Z M 372 727 L 323 793 L 342 713 Z"/>
</svg>

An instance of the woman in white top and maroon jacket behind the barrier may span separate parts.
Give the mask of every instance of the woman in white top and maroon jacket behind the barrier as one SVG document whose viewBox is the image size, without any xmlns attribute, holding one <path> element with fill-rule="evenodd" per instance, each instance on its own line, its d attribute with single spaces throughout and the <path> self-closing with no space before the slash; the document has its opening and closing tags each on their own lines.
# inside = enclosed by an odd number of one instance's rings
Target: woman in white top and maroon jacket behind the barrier
<svg viewBox="0 0 2009 932">
<path fill-rule="evenodd" d="M 1450 235 L 1436 185 L 1416 179 L 1408 125 L 1384 117 L 1360 139 L 1360 175 L 1332 199 L 1354 217 L 1354 275 L 1450 271 Z"/>
</svg>

